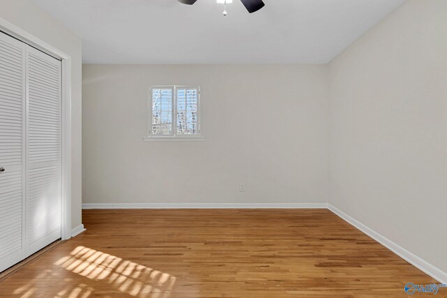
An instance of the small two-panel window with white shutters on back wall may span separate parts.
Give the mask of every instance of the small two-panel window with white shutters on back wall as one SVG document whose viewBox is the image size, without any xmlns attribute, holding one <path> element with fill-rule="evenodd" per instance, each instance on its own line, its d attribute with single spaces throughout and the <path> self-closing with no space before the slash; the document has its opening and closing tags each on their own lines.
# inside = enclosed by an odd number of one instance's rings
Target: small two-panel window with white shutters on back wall
<svg viewBox="0 0 447 298">
<path fill-rule="evenodd" d="M 200 87 L 152 87 L 149 137 L 200 138 Z"/>
</svg>

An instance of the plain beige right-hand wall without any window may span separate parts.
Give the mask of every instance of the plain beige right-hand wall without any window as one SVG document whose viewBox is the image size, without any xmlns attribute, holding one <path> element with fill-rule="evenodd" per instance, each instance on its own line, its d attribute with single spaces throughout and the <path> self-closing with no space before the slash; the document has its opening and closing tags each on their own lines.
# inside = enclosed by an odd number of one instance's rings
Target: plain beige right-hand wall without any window
<svg viewBox="0 0 447 298">
<path fill-rule="evenodd" d="M 406 1 L 330 81 L 330 203 L 447 272 L 447 1 Z"/>
</svg>

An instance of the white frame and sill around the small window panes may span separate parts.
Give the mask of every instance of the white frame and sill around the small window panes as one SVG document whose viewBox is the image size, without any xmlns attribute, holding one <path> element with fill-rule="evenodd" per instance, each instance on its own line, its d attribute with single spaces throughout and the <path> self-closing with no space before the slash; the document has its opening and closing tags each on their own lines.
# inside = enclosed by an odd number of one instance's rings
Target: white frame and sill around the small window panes
<svg viewBox="0 0 447 298">
<path fill-rule="evenodd" d="M 173 117 L 172 117 L 172 123 L 171 123 L 171 135 L 158 135 L 152 133 L 152 92 L 154 89 L 171 89 L 173 91 Z M 197 89 L 197 131 L 196 134 L 191 135 L 184 135 L 184 134 L 177 134 L 177 89 Z M 192 86 L 192 85 L 156 85 L 152 86 L 149 91 L 149 99 L 147 103 L 148 108 L 148 127 L 149 127 L 149 134 L 147 137 L 144 137 L 145 141 L 203 141 L 205 140 L 205 137 L 201 135 L 201 110 L 200 110 L 200 86 Z"/>
</svg>

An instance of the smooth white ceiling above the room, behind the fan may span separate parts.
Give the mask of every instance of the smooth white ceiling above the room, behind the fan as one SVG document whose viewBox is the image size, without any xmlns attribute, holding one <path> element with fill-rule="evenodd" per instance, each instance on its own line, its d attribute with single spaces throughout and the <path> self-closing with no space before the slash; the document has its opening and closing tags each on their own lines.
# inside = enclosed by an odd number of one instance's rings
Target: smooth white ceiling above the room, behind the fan
<svg viewBox="0 0 447 298">
<path fill-rule="evenodd" d="M 86 64 L 325 64 L 404 0 L 31 0 L 78 33 Z"/>
</svg>

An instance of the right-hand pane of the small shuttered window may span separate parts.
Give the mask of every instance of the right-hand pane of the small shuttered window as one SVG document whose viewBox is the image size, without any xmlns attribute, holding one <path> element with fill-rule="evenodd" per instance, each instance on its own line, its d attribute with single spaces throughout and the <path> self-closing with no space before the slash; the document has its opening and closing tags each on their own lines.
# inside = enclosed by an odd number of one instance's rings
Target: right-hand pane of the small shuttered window
<svg viewBox="0 0 447 298">
<path fill-rule="evenodd" d="M 177 89 L 177 134 L 198 133 L 197 89 Z"/>
</svg>

